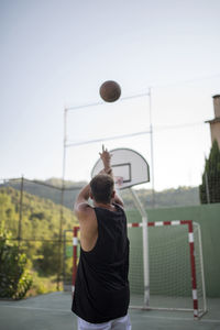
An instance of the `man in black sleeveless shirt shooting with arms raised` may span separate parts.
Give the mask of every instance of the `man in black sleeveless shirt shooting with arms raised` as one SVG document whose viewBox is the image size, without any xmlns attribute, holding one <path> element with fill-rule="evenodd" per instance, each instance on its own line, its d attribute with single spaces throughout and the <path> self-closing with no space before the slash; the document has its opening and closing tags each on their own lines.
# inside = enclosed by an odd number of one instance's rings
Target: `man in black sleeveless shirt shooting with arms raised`
<svg viewBox="0 0 220 330">
<path fill-rule="evenodd" d="M 100 157 L 103 170 L 81 189 L 74 207 L 81 250 L 72 310 L 78 316 L 78 330 L 131 330 L 127 217 L 114 190 L 111 155 L 103 146 Z"/>
</svg>

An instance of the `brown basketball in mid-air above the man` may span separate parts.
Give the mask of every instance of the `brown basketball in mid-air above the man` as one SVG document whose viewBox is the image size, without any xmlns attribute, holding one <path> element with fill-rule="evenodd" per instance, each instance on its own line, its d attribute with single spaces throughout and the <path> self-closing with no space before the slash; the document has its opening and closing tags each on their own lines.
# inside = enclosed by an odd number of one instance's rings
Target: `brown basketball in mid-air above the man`
<svg viewBox="0 0 220 330">
<path fill-rule="evenodd" d="M 121 87 L 113 80 L 105 81 L 99 89 L 100 97 L 106 102 L 114 102 L 121 96 Z"/>
</svg>

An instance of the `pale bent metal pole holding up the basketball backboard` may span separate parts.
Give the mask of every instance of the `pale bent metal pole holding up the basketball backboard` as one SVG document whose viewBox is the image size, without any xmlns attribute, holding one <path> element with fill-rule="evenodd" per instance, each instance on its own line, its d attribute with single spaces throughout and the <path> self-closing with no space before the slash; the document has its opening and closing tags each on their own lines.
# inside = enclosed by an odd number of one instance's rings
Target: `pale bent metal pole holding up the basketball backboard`
<svg viewBox="0 0 220 330">
<path fill-rule="evenodd" d="M 130 188 L 133 196 L 135 207 L 138 208 L 142 217 L 142 233 L 143 233 L 143 268 L 144 268 L 144 307 L 150 306 L 150 267 L 148 267 L 148 228 L 147 228 L 147 215 L 144 210 L 141 200 L 135 190 Z"/>
</svg>

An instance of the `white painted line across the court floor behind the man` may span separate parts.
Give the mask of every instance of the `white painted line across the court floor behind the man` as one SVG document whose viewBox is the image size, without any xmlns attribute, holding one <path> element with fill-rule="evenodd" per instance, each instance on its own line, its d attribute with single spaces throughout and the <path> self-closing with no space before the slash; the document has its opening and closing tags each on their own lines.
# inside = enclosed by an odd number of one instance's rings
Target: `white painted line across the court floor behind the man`
<svg viewBox="0 0 220 330">
<path fill-rule="evenodd" d="M 61 312 L 72 312 L 70 309 L 55 309 L 55 308 L 41 308 L 41 307 L 29 307 L 29 306 L 12 306 L 12 305 L 1 305 L 0 307 L 11 307 L 18 309 L 29 309 L 29 310 L 44 310 L 44 311 L 61 311 Z M 160 317 L 160 316 L 148 316 L 144 315 L 144 318 L 147 319 L 161 319 L 161 320 L 175 320 L 175 321 L 190 321 L 190 322 L 199 322 L 199 323 L 220 323 L 220 320 L 212 320 L 212 319 L 200 319 L 194 320 L 194 318 L 178 318 L 178 317 Z"/>
</svg>

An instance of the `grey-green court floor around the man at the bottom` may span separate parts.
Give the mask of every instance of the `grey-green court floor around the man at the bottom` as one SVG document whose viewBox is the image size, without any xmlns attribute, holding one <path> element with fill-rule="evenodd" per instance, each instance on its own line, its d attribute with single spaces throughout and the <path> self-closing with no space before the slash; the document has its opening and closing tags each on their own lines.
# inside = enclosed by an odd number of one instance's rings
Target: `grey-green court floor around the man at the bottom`
<svg viewBox="0 0 220 330">
<path fill-rule="evenodd" d="M 53 293 L 20 301 L 0 300 L 1 330 L 77 330 L 69 293 Z M 190 312 L 130 310 L 133 330 L 220 330 L 220 299 L 208 299 L 199 321 Z"/>
</svg>

